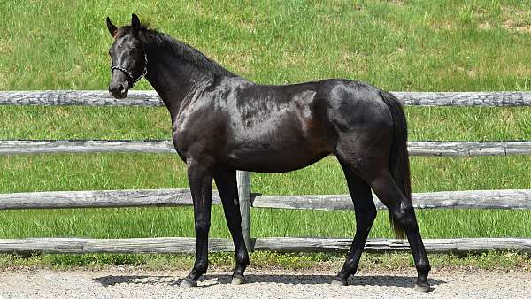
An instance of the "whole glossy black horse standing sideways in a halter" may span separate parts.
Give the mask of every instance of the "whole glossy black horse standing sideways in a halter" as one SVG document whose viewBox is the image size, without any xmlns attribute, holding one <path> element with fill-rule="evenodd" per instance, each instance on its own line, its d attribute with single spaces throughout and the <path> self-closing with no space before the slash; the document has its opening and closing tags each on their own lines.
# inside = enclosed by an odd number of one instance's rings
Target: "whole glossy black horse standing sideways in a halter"
<svg viewBox="0 0 531 299">
<path fill-rule="evenodd" d="M 231 73 L 189 45 L 141 25 L 117 28 L 109 54 L 116 98 L 143 75 L 170 112 L 173 144 L 188 167 L 194 202 L 196 262 L 181 286 L 196 286 L 208 267 L 212 179 L 235 244 L 233 283 L 245 282 L 236 170 L 289 172 L 333 153 L 345 174 L 356 235 L 332 282 L 346 285 L 376 216 L 371 188 L 389 208 L 397 234 L 407 234 L 418 272 L 416 288 L 430 289 L 430 270 L 411 200 L 404 111 L 395 96 L 352 80 L 259 85 Z"/>
</svg>

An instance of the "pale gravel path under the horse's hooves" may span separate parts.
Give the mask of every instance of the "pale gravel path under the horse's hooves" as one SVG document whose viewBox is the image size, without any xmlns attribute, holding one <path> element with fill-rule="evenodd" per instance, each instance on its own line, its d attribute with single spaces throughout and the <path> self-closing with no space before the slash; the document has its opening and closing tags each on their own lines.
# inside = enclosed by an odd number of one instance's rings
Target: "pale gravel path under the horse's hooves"
<svg viewBox="0 0 531 299">
<path fill-rule="evenodd" d="M 330 272 L 249 269 L 249 283 L 233 286 L 230 272 L 210 272 L 198 288 L 180 288 L 185 272 L 138 269 L 0 271 L 0 298 L 524 298 L 531 272 L 432 271 L 431 293 L 412 290 L 414 272 L 361 272 L 347 287 L 328 285 Z"/>
</svg>

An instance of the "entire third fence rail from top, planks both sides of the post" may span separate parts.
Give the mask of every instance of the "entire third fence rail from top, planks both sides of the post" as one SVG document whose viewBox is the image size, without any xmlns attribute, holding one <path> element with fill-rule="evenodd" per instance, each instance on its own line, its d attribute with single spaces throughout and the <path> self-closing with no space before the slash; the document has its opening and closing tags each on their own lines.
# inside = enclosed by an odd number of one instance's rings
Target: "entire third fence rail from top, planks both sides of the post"
<svg viewBox="0 0 531 299">
<path fill-rule="evenodd" d="M 385 206 L 374 197 L 379 210 Z M 349 195 L 257 196 L 255 208 L 352 210 Z M 220 203 L 212 190 L 212 203 Z M 189 189 L 51 191 L 0 194 L 0 210 L 191 205 Z M 531 209 L 531 190 L 472 190 L 413 194 L 419 209 Z"/>
</svg>

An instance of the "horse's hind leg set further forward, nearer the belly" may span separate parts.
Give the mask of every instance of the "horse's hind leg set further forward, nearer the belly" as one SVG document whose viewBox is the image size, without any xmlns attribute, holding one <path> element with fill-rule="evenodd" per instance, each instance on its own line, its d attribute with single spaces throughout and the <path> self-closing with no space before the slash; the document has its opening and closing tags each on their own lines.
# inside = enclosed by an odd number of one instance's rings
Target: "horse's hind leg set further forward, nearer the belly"
<svg viewBox="0 0 531 299">
<path fill-rule="evenodd" d="M 347 180 L 350 198 L 354 204 L 356 214 L 356 234 L 350 245 L 349 254 L 341 271 L 332 280 L 333 285 L 345 286 L 350 275 L 354 275 L 358 270 L 359 259 L 365 247 L 367 236 L 373 226 L 373 221 L 376 218 L 376 207 L 374 206 L 373 195 L 369 185 L 359 179 L 346 162 L 341 162 L 340 160 L 340 164 Z"/>
</svg>

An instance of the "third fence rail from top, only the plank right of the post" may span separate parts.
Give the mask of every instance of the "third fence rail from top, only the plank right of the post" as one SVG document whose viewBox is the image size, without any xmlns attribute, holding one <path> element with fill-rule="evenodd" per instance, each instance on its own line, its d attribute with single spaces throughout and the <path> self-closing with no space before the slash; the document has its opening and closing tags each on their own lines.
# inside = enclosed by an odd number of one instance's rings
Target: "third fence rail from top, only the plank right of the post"
<svg viewBox="0 0 531 299">
<path fill-rule="evenodd" d="M 373 195 L 379 210 L 386 207 Z M 531 190 L 471 190 L 414 193 L 418 209 L 531 209 Z M 337 196 L 255 196 L 255 208 L 353 210 L 349 195 Z"/>
</svg>

